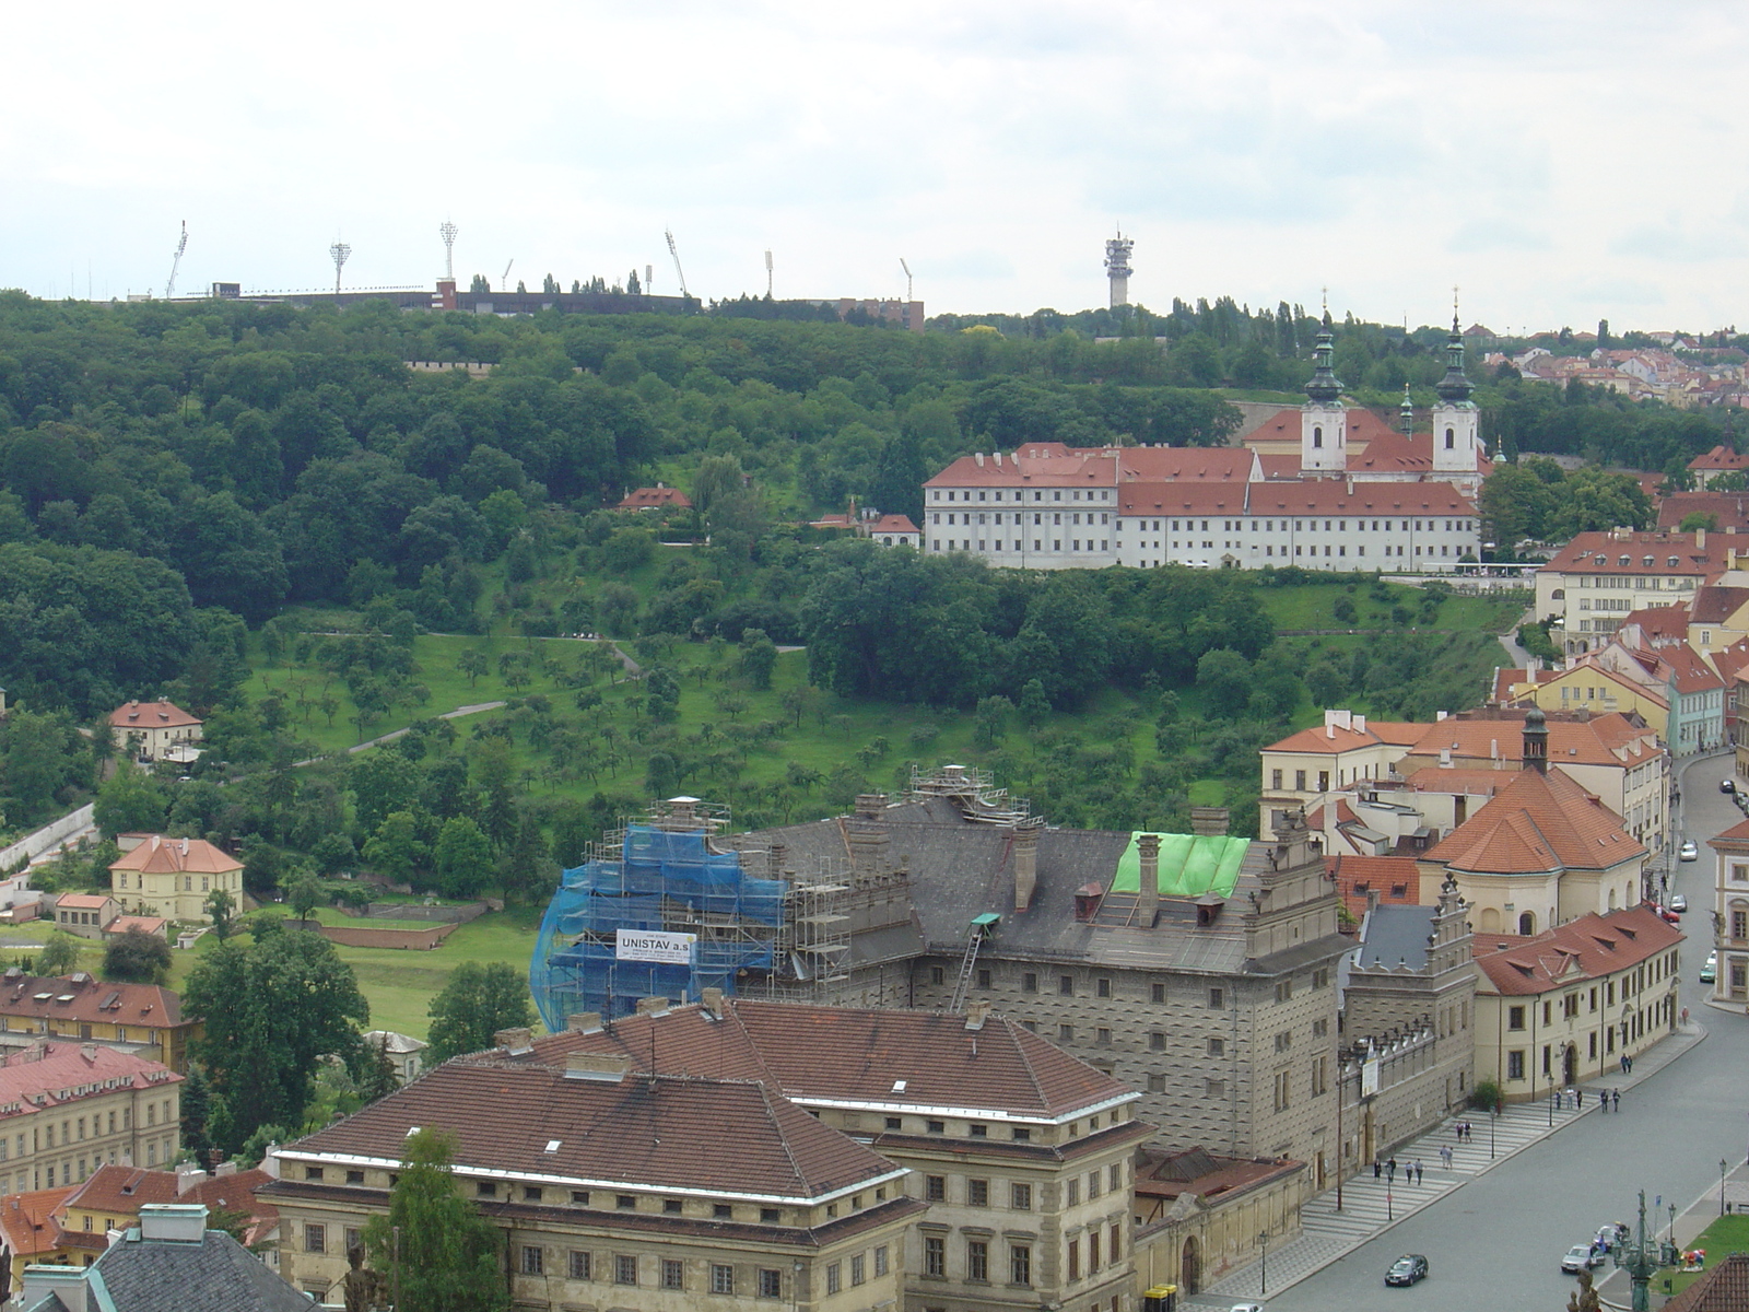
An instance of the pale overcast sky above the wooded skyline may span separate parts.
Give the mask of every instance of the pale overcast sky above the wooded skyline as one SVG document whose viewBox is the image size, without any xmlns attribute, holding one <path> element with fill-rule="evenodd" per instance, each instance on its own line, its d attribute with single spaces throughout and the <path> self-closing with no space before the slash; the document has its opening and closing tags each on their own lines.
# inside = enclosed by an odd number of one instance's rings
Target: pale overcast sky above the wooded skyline
<svg viewBox="0 0 1749 1312">
<path fill-rule="evenodd" d="M 1411 325 L 1742 322 L 1749 5 L 12 5 L 0 287 L 1230 294 Z"/>
</svg>

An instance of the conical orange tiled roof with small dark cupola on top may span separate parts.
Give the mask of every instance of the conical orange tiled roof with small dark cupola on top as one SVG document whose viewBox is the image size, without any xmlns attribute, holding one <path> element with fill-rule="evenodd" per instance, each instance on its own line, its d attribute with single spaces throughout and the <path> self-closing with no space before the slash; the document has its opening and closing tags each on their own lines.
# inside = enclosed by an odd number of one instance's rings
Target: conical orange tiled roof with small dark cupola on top
<svg viewBox="0 0 1749 1312">
<path fill-rule="evenodd" d="M 1609 869 L 1644 854 L 1597 794 L 1560 770 L 1523 770 L 1425 859 L 1478 875 L 1523 875 Z"/>
</svg>

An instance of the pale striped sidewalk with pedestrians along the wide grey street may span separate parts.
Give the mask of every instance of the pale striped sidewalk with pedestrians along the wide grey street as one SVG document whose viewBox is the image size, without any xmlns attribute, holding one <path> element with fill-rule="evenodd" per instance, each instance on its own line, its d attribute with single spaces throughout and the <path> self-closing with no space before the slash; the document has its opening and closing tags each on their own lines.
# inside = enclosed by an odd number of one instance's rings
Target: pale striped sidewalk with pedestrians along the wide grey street
<svg viewBox="0 0 1749 1312">
<path fill-rule="evenodd" d="M 1300 1209 L 1300 1235 L 1282 1247 L 1270 1247 L 1268 1293 L 1280 1295 L 1300 1284 L 1300 1281 L 1315 1275 L 1329 1263 L 1376 1239 L 1397 1221 L 1420 1212 L 1424 1207 L 1431 1207 L 1476 1176 L 1492 1170 L 1513 1156 L 1513 1153 L 1548 1139 L 1569 1121 L 1579 1116 L 1600 1114 L 1597 1109 L 1599 1090 L 1621 1090 L 1621 1095 L 1628 1097 L 1630 1090 L 1642 1079 L 1649 1079 L 1705 1037 L 1707 1030 L 1695 1023 L 1693 1018 L 1688 1025 L 1679 1025 L 1663 1043 L 1635 1058 L 1634 1074 L 1618 1078 L 1611 1072 L 1607 1079 L 1595 1085 L 1581 1085 L 1585 1106 L 1579 1111 L 1569 1106 L 1551 1114 L 1550 1104 L 1544 1099 L 1541 1102 L 1513 1104 L 1499 1118 L 1490 1118 L 1481 1111 L 1448 1118 L 1438 1128 L 1396 1149 L 1396 1186 L 1387 1190 L 1385 1181 L 1375 1181 L 1371 1169 L 1368 1169 L 1343 1181 L 1343 1205 L 1340 1212 L 1336 1211 L 1336 1190 L 1326 1190 L 1317 1198 L 1307 1202 Z M 1457 1142 L 1452 1128 L 1460 1120 L 1469 1120 L 1473 1127 L 1471 1141 L 1464 1144 Z M 1494 1120 L 1492 1127 L 1490 1120 Z M 1494 1134 L 1492 1153 L 1488 1141 L 1490 1128 Z M 1439 1160 L 1441 1146 L 1452 1149 L 1450 1170 Z M 1420 1184 L 1404 1184 L 1403 1163 L 1415 1162 L 1417 1158 L 1422 1163 L 1424 1179 Z M 1702 1204 L 1695 1207 L 1702 1207 Z M 1695 1226 L 1695 1233 L 1702 1228 L 1705 1228 L 1705 1221 Z M 1683 1225 L 1679 1221 L 1677 1237 L 1681 1235 Z M 1263 1265 L 1252 1263 L 1244 1270 L 1221 1277 L 1202 1293 L 1182 1300 L 1182 1303 L 1186 1307 L 1219 1307 L 1224 1312 L 1233 1303 L 1263 1302 L 1261 1277 Z"/>
</svg>

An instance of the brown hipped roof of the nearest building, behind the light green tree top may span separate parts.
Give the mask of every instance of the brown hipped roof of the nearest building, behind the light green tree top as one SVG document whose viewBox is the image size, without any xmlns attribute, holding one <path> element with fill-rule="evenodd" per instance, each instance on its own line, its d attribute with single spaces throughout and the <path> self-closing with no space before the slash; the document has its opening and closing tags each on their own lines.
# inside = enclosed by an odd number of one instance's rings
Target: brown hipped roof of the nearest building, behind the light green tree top
<svg viewBox="0 0 1749 1312">
<path fill-rule="evenodd" d="M 511 1107 L 516 1114 L 505 1114 Z M 895 1170 L 775 1085 L 567 1078 L 563 1060 L 500 1060 L 497 1053 L 446 1062 L 285 1151 L 394 1163 L 418 1127 L 441 1127 L 456 1137 L 462 1174 L 511 1172 L 602 1188 L 715 1190 L 803 1202 Z"/>
</svg>

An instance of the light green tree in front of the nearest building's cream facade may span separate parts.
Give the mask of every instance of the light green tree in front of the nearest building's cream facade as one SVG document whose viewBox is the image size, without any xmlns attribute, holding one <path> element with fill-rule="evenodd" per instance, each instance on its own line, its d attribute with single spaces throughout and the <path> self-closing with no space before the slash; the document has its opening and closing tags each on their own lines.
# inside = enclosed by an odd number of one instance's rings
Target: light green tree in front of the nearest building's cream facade
<svg viewBox="0 0 1749 1312">
<path fill-rule="evenodd" d="M 422 1128 L 408 1135 L 388 1214 L 364 1226 L 371 1265 L 399 1289 L 397 1312 L 504 1312 L 498 1230 L 462 1197 L 451 1167 L 453 1135 Z"/>
</svg>

